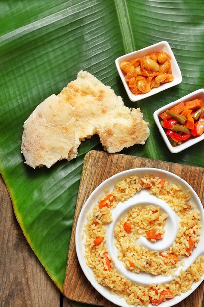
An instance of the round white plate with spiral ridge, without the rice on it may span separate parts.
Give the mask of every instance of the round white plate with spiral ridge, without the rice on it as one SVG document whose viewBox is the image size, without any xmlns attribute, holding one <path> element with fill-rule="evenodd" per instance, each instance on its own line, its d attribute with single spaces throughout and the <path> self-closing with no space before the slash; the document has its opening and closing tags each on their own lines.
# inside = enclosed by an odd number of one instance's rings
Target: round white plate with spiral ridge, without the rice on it
<svg viewBox="0 0 204 307">
<path fill-rule="evenodd" d="M 201 235 L 200 235 L 200 241 L 197 245 L 197 247 L 193 250 L 191 256 L 188 258 L 185 257 L 185 265 L 182 267 L 182 269 L 185 271 L 198 256 L 204 256 L 204 210 L 203 206 L 201 204 L 201 201 L 199 200 L 199 197 L 195 193 L 195 191 L 192 189 L 192 187 L 183 179 L 180 177 L 174 175 L 173 173 L 155 169 L 155 168 L 137 168 L 137 169 L 131 169 L 127 170 L 121 173 L 118 173 L 114 175 L 113 177 L 110 177 L 109 179 L 105 180 L 103 183 L 101 183 L 90 195 L 90 197 L 87 199 L 85 205 L 83 206 L 78 222 L 76 227 L 76 237 L 75 237 L 75 243 L 76 243 L 76 252 L 78 256 L 79 263 L 81 265 L 81 268 L 86 275 L 87 279 L 91 282 L 92 286 L 106 299 L 113 302 L 116 305 L 122 306 L 122 307 L 129 307 L 124 300 L 124 298 L 119 298 L 117 295 L 113 295 L 110 293 L 109 289 L 100 285 L 94 278 L 93 272 L 90 267 L 86 264 L 86 259 L 84 257 L 85 252 L 85 234 L 84 233 L 84 225 L 87 223 L 87 213 L 90 212 L 95 204 L 98 203 L 99 197 L 105 194 L 105 190 L 107 188 L 112 191 L 113 186 L 119 182 L 122 179 L 125 179 L 131 175 L 153 175 L 158 176 L 159 179 L 166 179 L 169 183 L 175 183 L 181 185 L 183 190 L 190 190 L 190 196 L 191 200 L 190 203 L 192 203 L 195 206 L 195 209 L 199 210 L 200 216 L 201 216 Z M 142 205 L 143 203 L 149 203 L 149 204 L 157 204 L 157 206 L 160 206 L 166 212 L 168 213 L 168 221 L 165 225 L 165 236 L 166 240 L 165 242 L 155 242 L 154 249 L 155 250 L 162 250 L 163 248 L 166 248 L 166 242 L 168 242 L 168 246 L 172 244 L 176 237 L 176 233 L 178 230 L 178 223 L 179 223 L 179 217 L 176 215 L 175 211 L 173 211 L 167 203 L 165 203 L 163 200 L 157 198 L 153 194 L 149 194 L 147 189 L 143 189 L 139 192 L 139 194 L 135 194 L 132 198 L 128 199 L 124 203 L 119 202 L 116 208 L 112 209 L 112 217 L 113 222 L 108 225 L 107 231 L 106 231 L 106 246 L 108 249 L 108 253 L 111 256 L 112 259 L 115 261 L 115 268 L 120 271 L 124 276 L 126 276 L 128 279 L 135 283 L 143 284 L 143 285 L 149 285 L 152 282 L 155 283 L 166 283 L 168 281 L 171 281 L 174 279 L 174 277 L 170 276 L 161 276 L 161 275 L 151 275 L 147 273 L 132 273 L 131 271 L 127 270 L 123 264 L 118 260 L 117 258 L 117 248 L 114 245 L 114 234 L 113 234 L 113 228 L 116 224 L 116 222 L 121 218 L 122 215 L 127 213 L 127 210 L 129 210 L 131 207 L 135 205 Z M 147 240 L 146 240 L 147 241 Z M 160 240 L 162 241 L 162 240 Z M 152 244 L 152 243 L 149 243 Z M 177 273 L 181 267 L 178 268 Z M 161 303 L 160 307 L 170 307 L 173 306 L 180 301 L 182 301 L 184 298 L 186 298 L 188 295 L 190 295 L 203 281 L 204 275 L 202 276 L 201 280 L 199 282 L 193 283 L 191 290 L 189 290 L 186 293 L 182 293 L 180 296 L 175 296 L 174 298 L 170 300 L 166 300 L 163 303 Z M 152 306 L 152 304 L 149 304 L 149 307 Z"/>
</svg>

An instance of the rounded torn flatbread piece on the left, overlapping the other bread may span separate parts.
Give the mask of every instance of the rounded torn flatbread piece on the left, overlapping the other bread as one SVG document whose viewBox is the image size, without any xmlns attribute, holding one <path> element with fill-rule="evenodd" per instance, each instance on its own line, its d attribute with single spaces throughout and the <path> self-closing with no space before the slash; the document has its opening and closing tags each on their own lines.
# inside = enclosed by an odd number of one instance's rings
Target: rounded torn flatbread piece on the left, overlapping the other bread
<svg viewBox="0 0 204 307">
<path fill-rule="evenodd" d="M 80 144 L 74 128 L 75 109 L 56 95 L 40 103 L 24 123 L 21 152 L 25 163 L 35 168 L 77 156 Z"/>
</svg>

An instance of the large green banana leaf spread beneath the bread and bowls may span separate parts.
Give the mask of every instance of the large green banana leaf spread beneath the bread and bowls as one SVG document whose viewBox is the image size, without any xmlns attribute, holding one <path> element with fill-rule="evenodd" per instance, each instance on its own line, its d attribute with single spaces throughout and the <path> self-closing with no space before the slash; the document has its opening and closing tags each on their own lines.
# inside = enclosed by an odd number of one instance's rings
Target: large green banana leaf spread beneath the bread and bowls
<svg viewBox="0 0 204 307">
<path fill-rule="evenodd" d="M 183 81 L 130 102 L 115 59 L 159 41 L 169 42 Z M 203 0 L 7 0 L 0 2 L 0 172 L 21 228 L 46 271 L 62 290 L 82 163 L 78 157 L 51 169 L 31 169 L 20 153 L 23 123 L 46 97 L 58 94 L 81 69 L 140 107 L 151 134 L 145 145 L 121 153 L 204 167 L 204 141 L 170 153 L 153 112 L 204 84 Z"/>
</svg>

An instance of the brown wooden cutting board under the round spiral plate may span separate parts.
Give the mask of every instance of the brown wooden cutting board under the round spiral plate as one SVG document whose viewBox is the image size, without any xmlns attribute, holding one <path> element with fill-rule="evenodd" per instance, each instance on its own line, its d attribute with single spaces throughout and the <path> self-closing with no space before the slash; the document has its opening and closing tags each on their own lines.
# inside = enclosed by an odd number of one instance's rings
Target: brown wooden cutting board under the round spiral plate
<svg viewBox="0 0 204 307">
<path fill-rule="evenodd" d="M 64 295 L 74 301 L 98 306 L 115 307 L 113 303 L 101 296 L 85 277 L 75 249 L 75 230 L 79 213 L 91 192 L 105 179 L 114 174 L 138 167 L 154 167 L 170 171 L 186 180 L 198 194 L 204 204 L 204 169 L 189 165 L 181 165 L 151 159 L 145 159 L 123 154 L 109 154 L 100 151 L 90 151 L 84 159 L 80 181 L 73 229 L 68 253 L 67 269 L 64 281 Z M 188 298 L 176 307 L 201 307 L 204 292 L 204 282 Z"/>
</svg>

